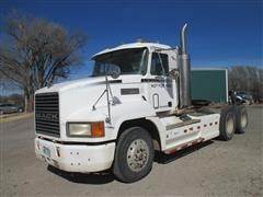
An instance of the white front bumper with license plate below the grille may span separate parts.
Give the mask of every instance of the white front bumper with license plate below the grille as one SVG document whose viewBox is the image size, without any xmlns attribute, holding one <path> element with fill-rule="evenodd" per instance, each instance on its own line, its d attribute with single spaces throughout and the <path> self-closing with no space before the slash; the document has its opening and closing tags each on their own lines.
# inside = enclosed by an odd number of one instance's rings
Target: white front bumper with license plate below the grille
<svg viewBox="0 0 263 197">
<path fill-rule="evenodd" d="M 61 144 L 35 139 L 36 158 L 68 172 L 99 172 L 112 166 L 115 142 L 98 146 Z"/>
</svg>

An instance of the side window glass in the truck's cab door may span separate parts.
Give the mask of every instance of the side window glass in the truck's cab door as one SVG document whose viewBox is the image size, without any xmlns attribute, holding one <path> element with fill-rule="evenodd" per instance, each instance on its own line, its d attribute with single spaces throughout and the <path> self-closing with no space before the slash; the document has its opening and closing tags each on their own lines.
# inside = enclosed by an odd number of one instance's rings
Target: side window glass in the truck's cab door
<svg viewBox="0 0 263 197">
<path fill-rule="evenodd" d="M 169 71 L 168 55 L 152 53 L 150 73 L 152 76 L 165 76 L 168 74 L 168 71 Z"/>
</svg>

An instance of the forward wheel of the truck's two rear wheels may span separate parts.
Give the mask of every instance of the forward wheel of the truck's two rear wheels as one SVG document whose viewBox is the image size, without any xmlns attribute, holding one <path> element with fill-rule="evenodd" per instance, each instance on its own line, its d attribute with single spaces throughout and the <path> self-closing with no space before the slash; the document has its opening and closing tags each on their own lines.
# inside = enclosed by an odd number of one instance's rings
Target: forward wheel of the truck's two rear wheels
<svg viewBox="0 0 263 197">
<path fill-rule="evenodd" d="M 228 141 L 232 139 L 236 130 L 236 116 L 232 106 L 221 109 L 219 130 L 221 140 Z"/>
</svg>

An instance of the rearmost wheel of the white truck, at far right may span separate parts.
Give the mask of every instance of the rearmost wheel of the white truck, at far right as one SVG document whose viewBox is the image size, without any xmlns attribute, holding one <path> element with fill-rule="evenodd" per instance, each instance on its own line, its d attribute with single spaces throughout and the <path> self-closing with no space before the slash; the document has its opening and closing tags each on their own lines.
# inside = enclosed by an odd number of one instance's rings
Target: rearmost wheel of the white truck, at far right
<svg viewBox="0 0 263 197">
<path fill-rule="evenodd" d="M 244 134 L 249 123 L 249 116 L 244 106 L 236 107 L 236 132 Z"/>
</svg>

